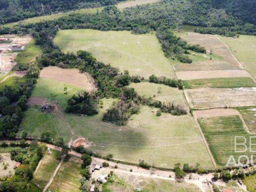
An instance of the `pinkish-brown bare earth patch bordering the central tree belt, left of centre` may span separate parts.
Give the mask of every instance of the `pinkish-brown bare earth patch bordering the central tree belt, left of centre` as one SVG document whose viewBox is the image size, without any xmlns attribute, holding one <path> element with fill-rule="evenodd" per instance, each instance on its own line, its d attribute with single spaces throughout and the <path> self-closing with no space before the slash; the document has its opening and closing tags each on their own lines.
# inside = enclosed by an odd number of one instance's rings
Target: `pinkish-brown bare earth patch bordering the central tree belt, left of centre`
<svg viewBox="0 0 256 192">
<path fill-rule="evenodd" d="M 87 73 L 80 73 L 78 69 L 62 69 L 55 66 L 45 67 L 40 78 L 72 84 L 88 92 L 96 90 L 93 78 Z"/>
</svg>

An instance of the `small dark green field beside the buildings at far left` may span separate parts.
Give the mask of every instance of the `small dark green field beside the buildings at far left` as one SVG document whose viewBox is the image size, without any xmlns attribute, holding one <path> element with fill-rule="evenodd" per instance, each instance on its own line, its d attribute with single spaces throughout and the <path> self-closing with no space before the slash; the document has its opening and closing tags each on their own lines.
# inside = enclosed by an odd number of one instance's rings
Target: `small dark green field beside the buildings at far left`
<svg viewBox="0 0 256 192">
<path fill-rule="evenodd" d="M 41 54 L 42 50 L 38 45 L 35 45 L 35 41 L 32 39 L 29 44 L 26 45 L 25 50 L 19 52 L 15 61 L 25 67 L 28 62 L 33 62 L 33 60 Z"/>
</svg>

